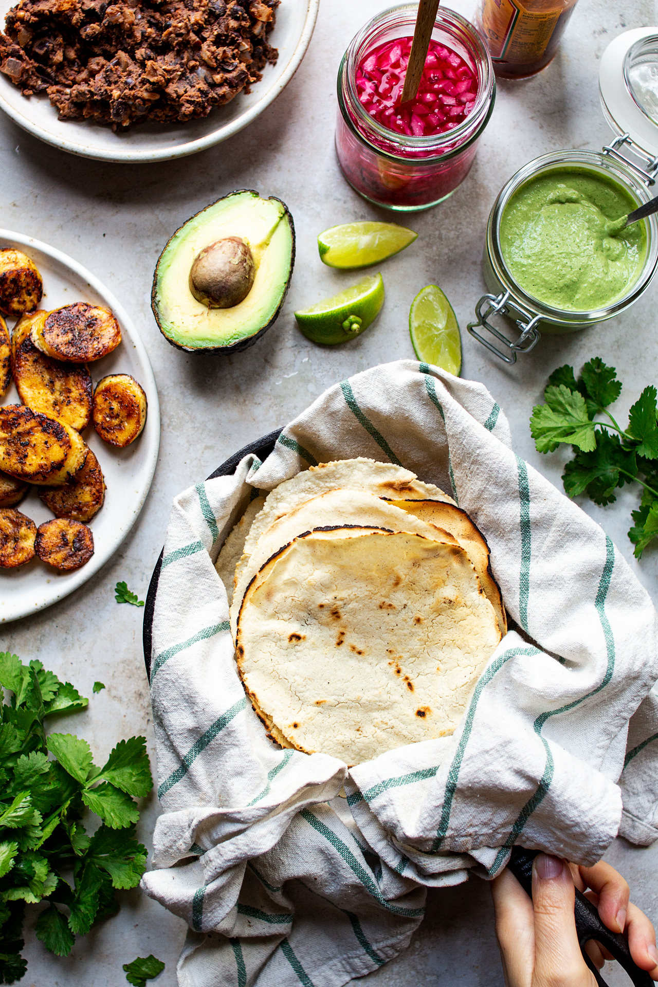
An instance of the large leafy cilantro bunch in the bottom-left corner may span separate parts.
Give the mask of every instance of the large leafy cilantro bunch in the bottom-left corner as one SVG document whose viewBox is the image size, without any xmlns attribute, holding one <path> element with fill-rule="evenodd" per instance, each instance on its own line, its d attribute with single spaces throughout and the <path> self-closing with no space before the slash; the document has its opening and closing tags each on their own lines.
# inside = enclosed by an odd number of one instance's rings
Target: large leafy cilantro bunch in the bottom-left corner
<svg viewBox="0 0 658 987">
<path fill-rule="evenodd" d="M 48 902 L 37 938 L 64 956 L 77 935 L 118 911 L 117 889 L 139 883 L 146 848 L 134 839 L 135 798 L 153 781 L 144 737 L 120 740 L 101 768 L 86 740 L 46 737 L 46 718 L 82 710 L 88 700 L 40 661 L 24 665 L 0 651 L 0 685 L 11 694 L 0 706 L 0 983 L 12 984 L 27 969 L 26 903 Z M 102 820 L 93 836 L 82 824 L 87 808 Z"/>
</svg>

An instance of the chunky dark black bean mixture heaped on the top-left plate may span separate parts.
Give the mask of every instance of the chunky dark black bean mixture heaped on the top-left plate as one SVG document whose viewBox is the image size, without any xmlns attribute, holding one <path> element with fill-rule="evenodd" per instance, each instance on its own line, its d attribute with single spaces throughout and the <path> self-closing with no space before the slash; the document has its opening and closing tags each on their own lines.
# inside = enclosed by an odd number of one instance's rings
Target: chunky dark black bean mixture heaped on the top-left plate
<svg viewBox="0 0 658 987">
<path fill-rule="evenodd" d="M 257 82 L 279 0 L 20 0 L 0 72 L 60 119 L 112 130 L 206 116 Z"/>
</svg>

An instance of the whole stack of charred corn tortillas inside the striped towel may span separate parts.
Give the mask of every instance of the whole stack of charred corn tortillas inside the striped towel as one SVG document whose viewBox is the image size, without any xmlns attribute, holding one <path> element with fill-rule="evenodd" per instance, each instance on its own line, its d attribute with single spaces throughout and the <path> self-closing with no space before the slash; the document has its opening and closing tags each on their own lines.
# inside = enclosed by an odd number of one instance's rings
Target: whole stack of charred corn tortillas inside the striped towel
<svg viewBox="0 0 658 987">
<path fill-rule="evenodd" d="M 257 497 L 216 569 L 271 739 L 350 766 L 452 733 L 507 630 L 475 524 L 390 463 L 320 464 Z"/>
</svg>

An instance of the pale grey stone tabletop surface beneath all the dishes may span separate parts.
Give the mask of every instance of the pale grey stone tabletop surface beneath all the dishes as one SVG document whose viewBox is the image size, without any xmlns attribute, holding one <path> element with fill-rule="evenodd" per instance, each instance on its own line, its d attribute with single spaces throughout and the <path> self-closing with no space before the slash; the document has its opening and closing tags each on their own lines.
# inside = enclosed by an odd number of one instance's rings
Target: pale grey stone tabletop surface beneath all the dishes
<svg viewBox="0 0 658 987">
<path fill-rule="evenodd" d="M 560 147 L 596 149 L 609 141 L 611 132 L 599 106 L 599 58 L 622 30 L 656 22 L 651 0 L 581 0 L 548 69 L 527 82 L 499 86 L 495 112 L 461 189 L 438 208 L 405 220 L 419 237 L 382 266 L 387 301 L 378 322 L 354 342 L 325 349 L 301 336 L 292 313 L 357 278 L 323 266 L 316 237 L 336 223 L 390 218 L 345 185 L 332 148 L 339 57 L 364 21 L 384 6 L 381 0 L 323 0 L 308 54 L 282 96 L 232 140 L 183 161 L 152 166 L 85 161 L 0 119 L 1 225 L 58 247 L 109 285 L 142 334 L 162 407 L 155 481 L 121 549 L 72 596 L 36 617 L 3 626 L 0 633 L 0 647 L 13 649 L 24 660 L 40 658 L 92 697 L 89 709 L 61 728 L 85 736 L 98 757 L 119 736 L 140 732 L 148 736 L 153 753 L 142 612 L 117 606 L 112 587 L 117 579 L 126 579 L 143 598 L 173 495 L 207 476 L 246 442 L 285 423 L 336 380 L 379 362 L 412 357 L 407 313 L 424 284 L 443 287 L 466 327 L 484 289 L 480 257 L 496 193 L 517 168 L 539 154 Z M 473 0 L 449 0 L 449 6 L 469 16 L 475 5 Z M 165 342 L 151 315 L 153 267 L 169 236 L 189 215 L 226 192 L 245 188 L 278 195 L 295 218 L 297 265 L 288 300 L 276 327 L 252 349 L 229 357 L 185 354 Z M 641 388 L 658 377 L 657 301 L 652 286 L 624 315 L 579 335 L 546 338 L 512 368 L 464 333 L 463 375 L 488 387 L 510 419 L 516 451 L 556 486 L 564 457 L 540 456 L 528 429 L 548 373 L 560 363 L 578 368 L 590 356 L 603 356 L 618 367 L 623 381 L 623 415 Z M 655 599 L 658 552 L 648 550 L 638 563 L 626 538 L 636 500 L 636 492 L 626 488 L 612 507 L 588 502 L 583 507 L 614 538 Z M 108 688 L 92 696 L 96 679 Z M 147 843 L 157 812 L 152 797 L 139 827 Z M 634 899 L 654 920 L 657 854 L 621 840 L 608 854 L 628 877 Z M 121 963 L 154 952 L 167 963 L 159 987 L 173 987 L 183 922 L 138 891 L 122 899 L 119 915 L 79 940 L 66 959 L 49 955 L 29 933 L 24 983 L 119 987 L 125 983 Z M 30 911 L 29 924 L 34 924 L 38 909 Z M 409 981 L 446 987 L 502 985 L 485 885 L 474 878 L 459 888 L 430 892 L 427 918 L 410 949 L 370 980 L 379 987 L 402 987 Z M 621 982 L 610 975 L 611 987 Z"/>
</svg>

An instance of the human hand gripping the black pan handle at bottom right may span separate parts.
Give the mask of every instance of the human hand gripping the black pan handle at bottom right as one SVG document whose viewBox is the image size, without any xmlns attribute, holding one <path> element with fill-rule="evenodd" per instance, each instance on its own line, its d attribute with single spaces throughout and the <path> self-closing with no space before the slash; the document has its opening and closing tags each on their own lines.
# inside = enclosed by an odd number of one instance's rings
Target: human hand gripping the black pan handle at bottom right
<svg viewBox="0 0 658 987">
<path fill-rule="evenodd" d="M 609 864 L 579 868 L 539 854 L 533 865 L 533 897 L 510 871 L 491 881 L 496 938 L 507 987 L 596 987 L 583 959 L 573 917 L 574 886 L 598 908 L 612 932 L 622 932 L 640 969 L 658 980 L 653 926 L 628 901 L 628 885 Z M 589 890 L 587 890 L 589 888 Z M 585 947 L 600 969 L 613 957 L 597 943 Z"/>
</svg>

